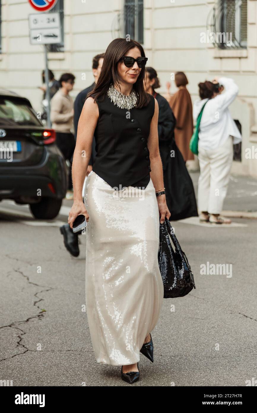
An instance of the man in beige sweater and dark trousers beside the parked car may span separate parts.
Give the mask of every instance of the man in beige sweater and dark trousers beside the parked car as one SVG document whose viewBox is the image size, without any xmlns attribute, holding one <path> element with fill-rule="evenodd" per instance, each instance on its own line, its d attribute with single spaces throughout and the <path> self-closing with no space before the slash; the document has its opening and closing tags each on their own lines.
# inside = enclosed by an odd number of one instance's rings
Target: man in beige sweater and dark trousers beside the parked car
<svg viewBox="0 0 257 413">
<path fill-rule="evenodd" d="M 60 89 L 51 100 L 50 119 L 52 128 L 56 132 L 56 144 L 62 152 L 65 160 L 71 164 L 72 155 L 75 149 L 75 139 L 71 132 L 73 129 L 73 100 L 69 95 L 73 89 L 75 76 L 71 73 L 64 73 L 59 79 Z M 68 176 L 68 198 L 71 199 L 72 190 L 71 167 Z M 67 197 L 67 196 L 66 196 Z"/>
</svg>

